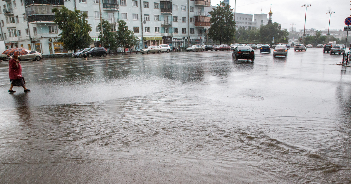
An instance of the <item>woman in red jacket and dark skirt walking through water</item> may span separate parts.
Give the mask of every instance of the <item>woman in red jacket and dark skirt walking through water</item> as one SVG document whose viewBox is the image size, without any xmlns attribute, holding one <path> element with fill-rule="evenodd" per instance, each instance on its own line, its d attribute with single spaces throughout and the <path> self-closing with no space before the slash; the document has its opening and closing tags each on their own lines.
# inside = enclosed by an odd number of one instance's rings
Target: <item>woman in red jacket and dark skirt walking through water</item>
<svg viewBox="0 0 351 184">
<path fill-rule="evenodd" d="M 26 81 L 22 77 L 22 67 L 20 64 L 20 61 L 18 61 L 18 55 L 13 55 L 12 59 L 8 61 L 8 76 L 10 77 L 11 81 L 11 87 L 8 90 L 9 93 L 15 93 L 16 91 L 12 90 L 12 87 L 14 86 L 22 86 L 24 89 L 24 92 L 27 93 L 30 91 L 30 89 L 27 89 L 25 87 Z"/>
</svg>

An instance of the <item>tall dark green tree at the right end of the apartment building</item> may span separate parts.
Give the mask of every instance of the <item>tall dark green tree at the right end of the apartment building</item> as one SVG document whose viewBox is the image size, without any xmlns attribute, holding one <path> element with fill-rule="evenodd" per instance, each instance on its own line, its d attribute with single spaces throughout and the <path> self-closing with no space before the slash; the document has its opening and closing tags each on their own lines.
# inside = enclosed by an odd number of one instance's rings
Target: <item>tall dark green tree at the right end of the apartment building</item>
<svg viewBox="0 0 351 184">
<path fill-rule="evenodd" d="M 208 38 L 212 40 L 230 43 L 235 35 L 235 22 L 233 20 L 233 8 L 223 1 L 217 5 L 216 9 L 208 12 L 211 14 L 211 27 L 208 29 Z"/>
</svg>

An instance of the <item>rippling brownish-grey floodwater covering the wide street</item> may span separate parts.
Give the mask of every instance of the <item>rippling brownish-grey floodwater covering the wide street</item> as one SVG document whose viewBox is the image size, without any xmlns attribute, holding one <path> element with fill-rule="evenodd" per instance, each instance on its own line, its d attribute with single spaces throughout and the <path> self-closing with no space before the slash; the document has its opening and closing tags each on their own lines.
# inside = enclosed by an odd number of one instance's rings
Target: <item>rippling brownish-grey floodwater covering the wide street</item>
<svg viewBox="0 0 351 184">
<path fill-rule="evenodd" d="M 0 183 L 351 183 L 351 68 L 309 48 L 0 64 Z"/>
</svg>

